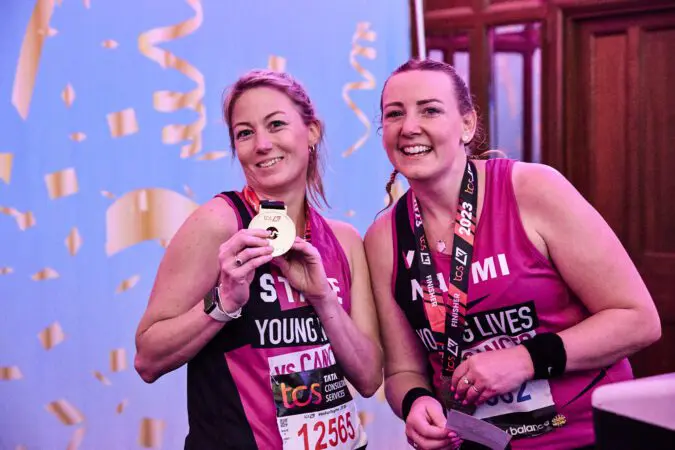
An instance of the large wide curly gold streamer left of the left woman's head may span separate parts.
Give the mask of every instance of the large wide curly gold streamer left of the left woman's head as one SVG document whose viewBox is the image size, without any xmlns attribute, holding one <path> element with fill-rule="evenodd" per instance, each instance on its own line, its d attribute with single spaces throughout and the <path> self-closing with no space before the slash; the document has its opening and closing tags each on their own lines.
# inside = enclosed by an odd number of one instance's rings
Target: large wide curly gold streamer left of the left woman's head
<svg viewBox="0 0 675 450">
<path fill-rule="evenodd" d="M 179 71 L 197 84 L 194 90 L 187 93 L 157 91 L 154 94 L 157 111 L 174 112 L 178 109 L 190 108 L 198 114 L 198 119 L 189 125 L 167 125 L 162 130 L 162 142 L 165 144 L 191 141 L 181 147 L 181 158 L 189 158 L 202 149 L 202 132 L 206 126 L 206 109 L 203 102 L 204 75 L 187 61 L 157 47 L 157 44 L 187 36 L 201 27 L 204 18 L 201 1 L 186 0 L 186 2 L 195 11 L 194 17 L 177 25 L 146 31 L 138 38 L 138 48 L 143 55 L 158 63 L 162 68 Z"/>
</svg>

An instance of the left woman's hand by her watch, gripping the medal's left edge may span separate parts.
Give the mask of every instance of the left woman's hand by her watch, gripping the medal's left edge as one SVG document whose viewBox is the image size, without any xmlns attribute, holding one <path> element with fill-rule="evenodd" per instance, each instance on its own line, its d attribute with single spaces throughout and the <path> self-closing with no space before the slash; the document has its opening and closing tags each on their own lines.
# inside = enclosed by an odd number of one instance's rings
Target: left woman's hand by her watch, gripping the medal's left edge
<svg viewBox="0 0 675 450">
<path fill-rule="evenodd" d="M 249 286 L 255 270 L 272 260 L 272 251 L 267 238 L 270 232 L 259 229 L 242 229 L 220 245 L 221 308 L 233 312 L 248 302 Z"/>
</svg>

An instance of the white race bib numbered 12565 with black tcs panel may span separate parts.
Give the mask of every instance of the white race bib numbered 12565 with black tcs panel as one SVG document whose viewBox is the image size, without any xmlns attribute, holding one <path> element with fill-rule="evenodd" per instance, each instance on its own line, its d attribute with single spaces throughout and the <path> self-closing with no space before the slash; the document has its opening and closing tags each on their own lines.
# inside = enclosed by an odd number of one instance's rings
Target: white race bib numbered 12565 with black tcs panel
<svg viewBox="0 0 675 450">
<path fill-rule="evenodd" d="M 284 450 L 364 448 L 356 404 L 330 344 L 269 358 Z"/>
</svg>

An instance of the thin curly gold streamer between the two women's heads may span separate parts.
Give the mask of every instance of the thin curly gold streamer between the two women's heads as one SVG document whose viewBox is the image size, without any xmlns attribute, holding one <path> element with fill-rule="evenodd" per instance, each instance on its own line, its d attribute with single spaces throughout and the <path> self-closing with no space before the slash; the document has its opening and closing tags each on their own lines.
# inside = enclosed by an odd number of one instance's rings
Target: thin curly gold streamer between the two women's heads
<svg viewBox="0 0 675 450">
<path fill-rule="evenodd" d="M 365 81 L 355 81 L 352 83 L 347 83 L 344 85 L 342 88 L 342 98 L 344 101 L 347 103 L 347 106 L 354 111 L 354 114 L 356 114 L 356 117 L 359 119 L 359 121 L 366 127 L 366 132 L 363 136 L 361 136 L 356 143 L 354 143 L 351 147 L 349 147 L 346 151 L 342 153 L 343 157 L 347 157 L 354 153 L 359 147 L 361 147 L 366 140 L 368 139 L 368 136 L 370 135 L 370 121 L 368 120 L 368 117 L 359 109 L 358 106 L 356 106 L 356 103 L 349 97 L 349 91 L 351 90 L 366 90 L 366 89 L 375 89 L 375 77 L 368 72 L 366 69 L 361 67 L 359 62 L 356 60 L 357 56 L 363 56 L 364 58 L 368 59 L 375 59 L 376 52 L 375 49 L 372 47 L 362 47 L 359 45 L 358 41 L 359 40 L 365 40 L 369 42 L 374 42 L 376 38 L 376 34 L 374 31 L 370 30 L 370 23 L 368 22 L 359 22 L 356 25 L 356 32 L 352 36 L 352 51 L 349 53 L 349 62 L 351 63 L 352 67 L 354 67 L 354 70 L 356 70 L 364 79 Z"/>
</svg>

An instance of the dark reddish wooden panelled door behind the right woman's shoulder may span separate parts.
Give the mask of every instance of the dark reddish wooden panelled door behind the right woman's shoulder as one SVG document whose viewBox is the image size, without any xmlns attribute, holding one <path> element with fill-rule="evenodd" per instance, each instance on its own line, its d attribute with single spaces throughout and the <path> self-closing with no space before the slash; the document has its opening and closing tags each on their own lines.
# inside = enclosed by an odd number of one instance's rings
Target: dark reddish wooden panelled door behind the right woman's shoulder
<svg viewBox="0 0 675 450">
<path fill-rule="evenodd" d="M 675 9 L 566 21 L 563 172 L 617 233 L 659 310 L 636 376 L 675 372 Z"/>
</svg>

